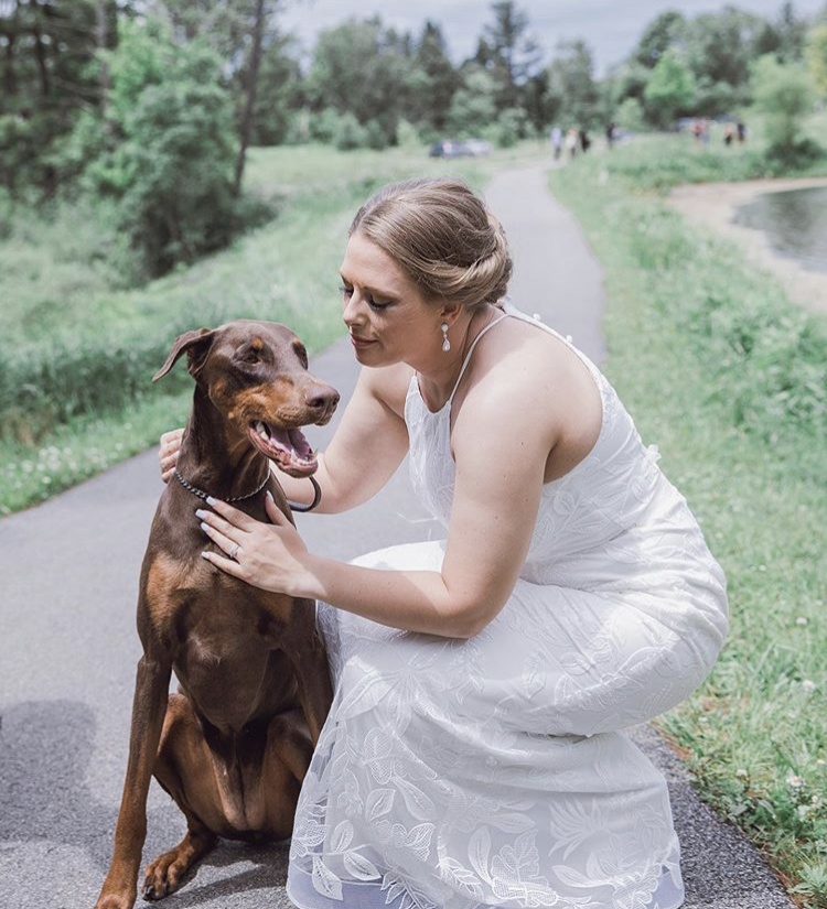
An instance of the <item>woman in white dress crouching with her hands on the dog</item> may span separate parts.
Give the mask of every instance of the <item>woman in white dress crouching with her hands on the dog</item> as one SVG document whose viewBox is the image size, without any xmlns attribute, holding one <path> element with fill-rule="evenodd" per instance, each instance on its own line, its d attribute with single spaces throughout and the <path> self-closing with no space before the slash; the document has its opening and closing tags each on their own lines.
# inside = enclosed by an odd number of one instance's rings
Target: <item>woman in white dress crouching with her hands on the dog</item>
<svg viewBox="0 0 827 909">
<path fill-rule="evenodd" d="M 619 731 L 685 699 L 722 643 L 724 581 L 695 519 L 599 370 L 504 302 L 503 231 L 464 184 L 382 190 L 341 271 L 364 368 L 319 510 L 365 501 L 409 454 L 448 534 L 344 564 L 275 507 L 271 524 L 203 515 L 217 567 L 321 602 L 335 697 L 290 897 L 675 909 L 665 780 Z"/>
</svg>

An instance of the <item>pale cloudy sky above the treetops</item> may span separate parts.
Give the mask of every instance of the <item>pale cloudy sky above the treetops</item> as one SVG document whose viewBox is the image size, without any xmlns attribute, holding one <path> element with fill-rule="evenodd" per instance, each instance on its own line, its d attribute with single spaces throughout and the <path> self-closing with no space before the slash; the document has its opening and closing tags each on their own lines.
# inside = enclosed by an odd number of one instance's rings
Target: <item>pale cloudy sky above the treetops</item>
<svg viewBox="0 0 827 909">
<path fill-rule="evenodd" d="M 812 15 L 825 8 L 827 0 L 794 0 L 798 15 Z M 732 6 L 765 19 L 777 19 L 783 0 L 732 0 Z M 716 12 L 724 6 L 715 0 L 516 0 L 527 13 L 529 30 L 546 51 L 554 55 L 559 41 L 583 39 L 593 58 L 595 75 L 601 77 L 620 63 L 637 43 L 646 25 L 667 10 L 679 10 L 687 18 Z M 385 25 L 419 36 L 427 19 L 442 28 L 449 53 L 455 63 L 471 56 L 483 26 L 491 24 L 490 0 L 287 0 L 280 13 L 283 31 L 290 31 L 310 51 L 320 30 L 339 25 L 347 19 L 368 19 L 378 14 Z"/>
</svg>

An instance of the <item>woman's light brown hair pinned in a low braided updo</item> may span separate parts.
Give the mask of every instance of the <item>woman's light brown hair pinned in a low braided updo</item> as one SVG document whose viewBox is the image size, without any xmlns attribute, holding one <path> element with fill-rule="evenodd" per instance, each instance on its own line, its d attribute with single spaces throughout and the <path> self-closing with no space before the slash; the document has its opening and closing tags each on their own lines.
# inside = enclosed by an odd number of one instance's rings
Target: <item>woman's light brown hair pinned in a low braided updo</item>
<svg viewBox="0 0 827 909">
<path fill-rule="evenodd" d="M 500 221 L 459 180 L 391 183 L 351 225 L 376 244 L 426 297 L 473 309 L 505 295 L 512 257 Z"/>
</svg>

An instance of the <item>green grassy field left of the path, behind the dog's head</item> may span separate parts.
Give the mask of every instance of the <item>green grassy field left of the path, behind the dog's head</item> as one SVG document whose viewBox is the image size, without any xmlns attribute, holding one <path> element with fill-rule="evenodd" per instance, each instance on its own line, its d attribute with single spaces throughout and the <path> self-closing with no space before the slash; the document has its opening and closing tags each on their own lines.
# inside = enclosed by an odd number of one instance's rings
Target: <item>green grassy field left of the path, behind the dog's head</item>
<svg viewBox="0 0 827 909">
<path fill-rule="evenodd" d="M 341 332 L 339 262 L 358 205 L 382 183 L 460 173 L 476 185 L 545 153 L 431 160 L 423 149 L 256 149 L 248 186 L 279 215 L 230 249 L 128 289 L 129 251 L 87 204 L 7 210 L 0 241 L 0 515 L 30 507 L 142 451 L 189 410 L 179 368 L 151 376 L 184 331 L 230 318 L 286 322 L 311 353 Z M 125 277 L 126 273 L 126 277 Z"/>
</svg>

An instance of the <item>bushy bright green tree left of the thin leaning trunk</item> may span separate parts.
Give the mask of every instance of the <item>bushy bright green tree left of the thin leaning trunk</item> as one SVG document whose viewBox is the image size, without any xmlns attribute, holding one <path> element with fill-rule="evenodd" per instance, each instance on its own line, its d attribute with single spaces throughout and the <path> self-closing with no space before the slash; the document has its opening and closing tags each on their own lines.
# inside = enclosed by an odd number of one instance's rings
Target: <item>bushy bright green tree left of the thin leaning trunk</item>
<svg viewBox="0 0 827 909">
<path fill-rule="evenodd" d="M 109 69 L 109 129 L 84 180 L 119 201 L 148 273 L 162 274 L 237 228 L 232 97 L 213 51 L 201 40 L 176 44 L 153 19 L 121 22 Z"/>
</svg>

